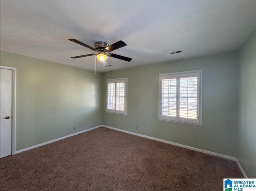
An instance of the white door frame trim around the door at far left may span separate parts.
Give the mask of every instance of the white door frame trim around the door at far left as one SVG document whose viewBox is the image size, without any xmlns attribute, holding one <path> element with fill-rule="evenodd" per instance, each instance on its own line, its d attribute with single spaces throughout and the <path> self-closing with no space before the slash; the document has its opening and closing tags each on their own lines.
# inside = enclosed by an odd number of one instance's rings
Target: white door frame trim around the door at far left
<svg viewBox="0 0 256 191">
<path fill-rule="evenodd" d="M 16 68 L 0 66 L 1 69 L 12 70 L 12 155 L 16 154 Z"/>
</svg>

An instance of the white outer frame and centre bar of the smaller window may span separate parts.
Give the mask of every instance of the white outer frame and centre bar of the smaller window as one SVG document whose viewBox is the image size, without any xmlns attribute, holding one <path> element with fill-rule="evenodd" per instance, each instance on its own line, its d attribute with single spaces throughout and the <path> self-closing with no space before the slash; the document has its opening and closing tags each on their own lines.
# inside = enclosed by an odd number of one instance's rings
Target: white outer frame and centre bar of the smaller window
<svg viewBox="0 0 256 191">
<path fill-rule="evenodd" d="M 116 83 L 124 82 L 124 111 L 108 109 L 108 84 L 115 83 L 115 108 L 116 108 Z M 106 113 L 127 116 L 127 86 L 128 78 L 116 78 L 106 80 Z"/>
</svg>

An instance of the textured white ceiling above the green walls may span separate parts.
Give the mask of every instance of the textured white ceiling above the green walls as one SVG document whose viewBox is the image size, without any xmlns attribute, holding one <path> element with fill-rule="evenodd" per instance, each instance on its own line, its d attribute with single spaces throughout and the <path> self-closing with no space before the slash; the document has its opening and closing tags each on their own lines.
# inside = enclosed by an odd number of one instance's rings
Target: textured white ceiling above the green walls
<svg viewBox="0 0 256 191">
<path fill-rule="evenodd" d="M 69 38 L 127 46 L 110 71 L 238 50 L 256 30 L 256 0 L 1 0 L 0 47 L 94 70 L 94 53 Z M 168 52 L 183 49 L 183 53 Z M 106 67 L 97 63 L 97 71 Z"/>
</svg>

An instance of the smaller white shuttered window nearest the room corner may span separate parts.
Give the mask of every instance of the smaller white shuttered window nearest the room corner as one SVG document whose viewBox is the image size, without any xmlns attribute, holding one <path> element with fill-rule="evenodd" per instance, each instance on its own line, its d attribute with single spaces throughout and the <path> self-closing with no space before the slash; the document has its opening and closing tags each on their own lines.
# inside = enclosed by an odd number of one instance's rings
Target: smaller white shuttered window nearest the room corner
<svg viewBox="0 0 256 191">
<path fill-rule="evenodd" d="M 127 115 L 127 78 L 107 80 L 106 112 Z"/>
</svg>

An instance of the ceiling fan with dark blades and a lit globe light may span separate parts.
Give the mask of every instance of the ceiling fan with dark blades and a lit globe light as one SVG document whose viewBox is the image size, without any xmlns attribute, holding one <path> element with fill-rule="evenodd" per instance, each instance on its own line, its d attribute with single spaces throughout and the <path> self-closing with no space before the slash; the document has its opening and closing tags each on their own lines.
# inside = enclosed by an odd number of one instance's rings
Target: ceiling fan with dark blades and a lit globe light
<svg viewBox="0 0 256 191">
<path fill-rule="evenodd" d="M 94 54 L 85 54 L 85 55 L 80 55 L 80 56 L 74 56 L 71 58 L 82 58 L 82 57 L 86 57 L 86 56 L 96 55 L 96 57 L 99 61 L 105 61 L 108 57 L 113 57 L 113 58 L 117 58 L 117 59 L 128 61 L 128 62 L 130 62 L 132 60 L 131 58 L 128 58 L 125 56 L 110 53 L 113 50 L 116 50 L 118 48 L 126 46 L 126 43 L 124 43 L 121 40 L 117 41 L 116 43 L 114 43 L 112 45 L 108 45 L 108 43 L 106 43 L 106 42 L 98 41 L 98 42 L 94 43 L 95 48 L 91 47 L 90 45 L 87 45 L 85 43 L 82 43 L 76 39 L 69 39 L 69 40 L 98 52 L 98 53 L 94 53 Z"/>
</svg>

